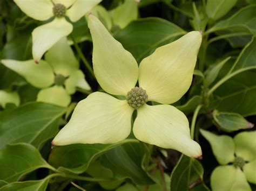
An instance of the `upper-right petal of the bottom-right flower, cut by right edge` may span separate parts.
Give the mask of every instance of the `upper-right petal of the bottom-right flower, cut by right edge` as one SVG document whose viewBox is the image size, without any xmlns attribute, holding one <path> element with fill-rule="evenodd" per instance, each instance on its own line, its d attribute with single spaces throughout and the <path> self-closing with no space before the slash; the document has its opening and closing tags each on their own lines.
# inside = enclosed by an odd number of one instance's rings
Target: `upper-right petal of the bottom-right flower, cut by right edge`
<svg viewBox="0 0 256 191">
<path fill-rule="evenodd" d="M 256 131 L 245 131 L 234 137 L 235 154 L 246 161 L 256 160 Z"/>
</svg>

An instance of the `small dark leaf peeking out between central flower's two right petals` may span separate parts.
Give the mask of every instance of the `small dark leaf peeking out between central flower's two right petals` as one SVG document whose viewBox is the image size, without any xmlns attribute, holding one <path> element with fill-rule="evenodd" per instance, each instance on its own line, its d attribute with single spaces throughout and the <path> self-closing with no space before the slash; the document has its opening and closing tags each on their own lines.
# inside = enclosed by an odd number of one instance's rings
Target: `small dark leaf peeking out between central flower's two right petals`
<svg viewBox="0 0 256 191">
<path fill-rule="evenodd" d="M 190 100 L 188 100 L 185 104 L 176 106 L 176 108 L 184 112 L 185 114 L 190 114 L 196 109 L 197 105 L 199 105 L 201 102 L 202 97 L 196 95 L 190 98 Z"/>
</svg>

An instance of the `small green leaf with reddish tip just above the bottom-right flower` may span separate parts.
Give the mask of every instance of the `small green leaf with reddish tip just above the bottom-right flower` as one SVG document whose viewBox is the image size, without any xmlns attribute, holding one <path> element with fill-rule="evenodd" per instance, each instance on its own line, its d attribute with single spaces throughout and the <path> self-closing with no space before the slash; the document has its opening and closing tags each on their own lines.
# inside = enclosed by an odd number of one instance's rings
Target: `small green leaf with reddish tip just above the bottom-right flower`
<svg viewBox="0 0 256 191">
<path fill-rule="evenodd" d="M 253 128 L 253 124 L 246 121 L 239 114 L 229 112 L 213 111 L 214 121 L 220 126 L 220 129 L 226 132 L 237 131 L 239 129 Z"/>
</svg>

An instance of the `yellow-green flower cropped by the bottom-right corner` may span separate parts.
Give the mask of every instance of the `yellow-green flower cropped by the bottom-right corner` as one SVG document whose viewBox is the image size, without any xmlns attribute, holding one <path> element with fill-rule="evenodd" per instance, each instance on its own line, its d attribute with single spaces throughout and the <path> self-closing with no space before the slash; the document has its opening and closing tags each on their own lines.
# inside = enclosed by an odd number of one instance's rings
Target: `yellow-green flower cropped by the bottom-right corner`
<svg viewBox="0 0 256 191">
<path fill-rule="evenodd" d="M 241 132 L 234 138 L 200 132 L 221 165 L 212 172 L 212 190 L 251 190 L 248 182 L 256 183 L 256 131 Z"/>
</svg>

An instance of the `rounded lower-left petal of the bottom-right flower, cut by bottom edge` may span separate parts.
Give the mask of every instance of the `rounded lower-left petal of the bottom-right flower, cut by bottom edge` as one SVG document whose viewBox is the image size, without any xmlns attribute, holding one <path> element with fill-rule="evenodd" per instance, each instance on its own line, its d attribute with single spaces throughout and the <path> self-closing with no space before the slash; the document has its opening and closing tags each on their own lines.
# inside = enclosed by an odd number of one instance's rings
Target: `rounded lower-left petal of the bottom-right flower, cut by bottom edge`
<svg viewBox="0 0 256 191">
<path fill-rule="evenodd" d="M 218 166 L 211 175 L 212 191 L 251 191 L 245 174 L 234 166 Z"/>
</svg>

